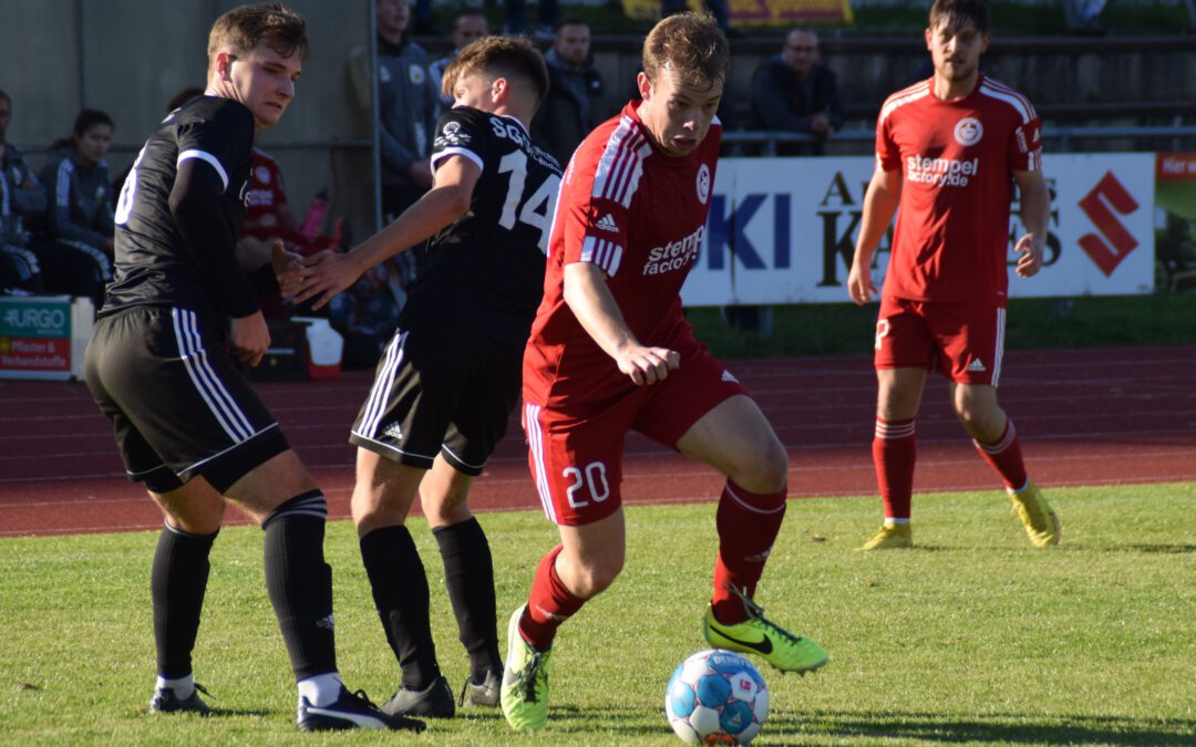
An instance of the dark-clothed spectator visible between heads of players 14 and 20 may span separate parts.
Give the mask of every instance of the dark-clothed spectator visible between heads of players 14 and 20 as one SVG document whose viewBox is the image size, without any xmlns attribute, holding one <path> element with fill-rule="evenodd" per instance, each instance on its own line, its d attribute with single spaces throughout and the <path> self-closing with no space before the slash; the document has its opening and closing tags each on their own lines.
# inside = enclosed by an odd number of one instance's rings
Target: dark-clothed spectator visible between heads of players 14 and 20
<svg viewBox="0 0 1196 747">
<path fill-rule="evenodd" d="M 598 111 L 603 82 L 590 61 L 590 25 L 579 18 L 561 20 L 544 61 L 548 96 L 531 122 L 531 136 L 565 166 L 578 143 L 605 118 Z"/>
</svg>

